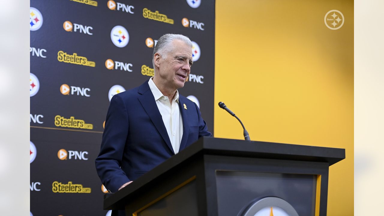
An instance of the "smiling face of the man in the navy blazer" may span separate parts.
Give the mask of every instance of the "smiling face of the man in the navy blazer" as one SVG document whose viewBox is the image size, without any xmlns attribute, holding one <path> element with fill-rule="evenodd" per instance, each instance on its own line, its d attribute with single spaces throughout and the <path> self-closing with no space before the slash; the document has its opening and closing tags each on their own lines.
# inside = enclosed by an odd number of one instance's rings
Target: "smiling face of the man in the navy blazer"
<svg viewBox="0 0 384 216">
<path fill-rule="evenodd" d="M 170 88 L 182 88 L 192 65 L 192 48 L 180 40 L 174 40 L 173 52 L 165 59 L 160 58 L 158 75 Z"/>
</svg>

